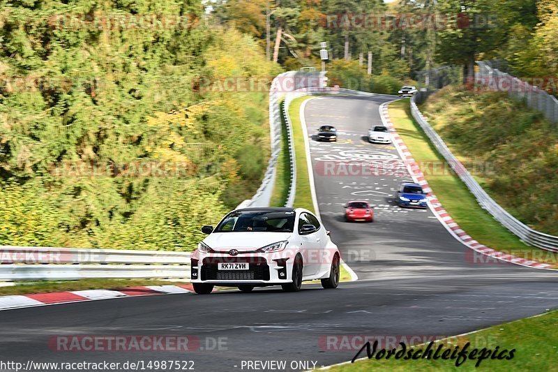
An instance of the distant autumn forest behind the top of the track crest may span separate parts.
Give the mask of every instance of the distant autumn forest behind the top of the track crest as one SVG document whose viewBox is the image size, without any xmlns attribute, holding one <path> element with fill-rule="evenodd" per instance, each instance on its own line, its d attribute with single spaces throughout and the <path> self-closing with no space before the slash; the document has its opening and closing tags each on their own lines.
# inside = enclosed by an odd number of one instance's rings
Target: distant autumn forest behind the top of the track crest
<svg viewBox="0 0 558 372">
<path fill-rule="evenodd" d="M 319 68 L 320 42 L 326 42 L 332 84 L 384 92 L 400 80 L 417 80 L 421 71 L 446 65 L 460 66 L 466 81 L 479 59 L 506 61 L 520 77 L 558 76 L 555 0 L 217 0 L 212 4 L 219 23 L 235 24 L 252 35 L 269 59 L 287 69 Z"/>
</svg>

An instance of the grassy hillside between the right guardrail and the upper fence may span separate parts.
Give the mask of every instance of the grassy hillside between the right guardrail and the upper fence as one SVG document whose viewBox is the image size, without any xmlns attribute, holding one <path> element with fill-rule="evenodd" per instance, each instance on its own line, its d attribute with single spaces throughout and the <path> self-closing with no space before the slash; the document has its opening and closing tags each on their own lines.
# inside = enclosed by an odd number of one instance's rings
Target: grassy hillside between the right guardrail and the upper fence
<svg viewBox="0 0 558 372">
<path fill-rule="evenodd" d="M 446 87 L 421 107 L 439 135 L 502 207 L 558 235 L 558 129 L 506 94 Z"/>
</svg>

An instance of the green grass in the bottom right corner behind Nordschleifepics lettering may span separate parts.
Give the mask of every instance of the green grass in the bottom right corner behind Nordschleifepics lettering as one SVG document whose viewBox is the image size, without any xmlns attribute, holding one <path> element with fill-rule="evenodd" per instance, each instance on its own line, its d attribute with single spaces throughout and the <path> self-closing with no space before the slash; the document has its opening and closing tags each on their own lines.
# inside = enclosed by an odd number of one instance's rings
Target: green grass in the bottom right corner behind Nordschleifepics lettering
<svg viewBox="0 0 558 372">
<path fill-rule="evenodd" d="M 515 349 L 512 359 L 484 359 L 479 364 L 480 368 L 475 366 L 478 359 L 467 359 L 460 366 L 455 366 L 455 359 L 402 360 L 392 357 L 378 360 L 373 357 L 354 364 L 333 367 L 330 371 L 556 371 L 558 334 L 555 329 L 557 324 L 558 311 L 552 311 L 541 316 L 496 325 L 473 334 L 435 343 L 434 350 L 439 343 L 444 343 L 445 348 L 452 350 L 456 346 L 460 346 L 461 350 L 468 342 L 470 343 L 469 352 L 474 348 L 495 350 L 497 346 L 499 346 L 498 352 Z M 425 347 L 426 345 L 414 346 L 415 350 Z M 360 357 L 362 356 L 366 356 L 365 351 L 360 355 Z"/>
</svg>

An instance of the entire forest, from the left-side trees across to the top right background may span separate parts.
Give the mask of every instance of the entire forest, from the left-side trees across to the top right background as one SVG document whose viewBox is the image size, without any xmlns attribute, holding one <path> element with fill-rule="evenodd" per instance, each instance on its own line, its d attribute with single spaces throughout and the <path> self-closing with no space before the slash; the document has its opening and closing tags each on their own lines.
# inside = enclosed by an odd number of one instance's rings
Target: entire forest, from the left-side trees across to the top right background
<svg viewBox="0 0 558 372">
<path fill-rule="evenodd" d="M 206 82 L 319 68 L 321 42 L 329 84 L 379 93 L 476 59 L 558 76 L 555 0 L 0 3 L 0 244 L 193 249 L 269 157 L 265 89 Z"/>
</svg>

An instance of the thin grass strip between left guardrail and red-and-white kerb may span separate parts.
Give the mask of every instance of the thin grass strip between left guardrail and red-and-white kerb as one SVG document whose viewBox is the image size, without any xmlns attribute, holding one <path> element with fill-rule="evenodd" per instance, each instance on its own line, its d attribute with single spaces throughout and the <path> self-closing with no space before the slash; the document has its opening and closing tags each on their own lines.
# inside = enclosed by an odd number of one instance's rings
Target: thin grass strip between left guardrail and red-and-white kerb
<svg viewBox="0 0 558 372">
<path fill-rule="evenodd" d="M 136 287 L 140 285 L 172 285 L 186 282 L 148 279 L 82 279 L 79 281 L 44 281 L 0 287 L 0 296 L 27 295 L 29 293 L 65 292 L 70 290 L 99 290 Z"/>
</svg>

